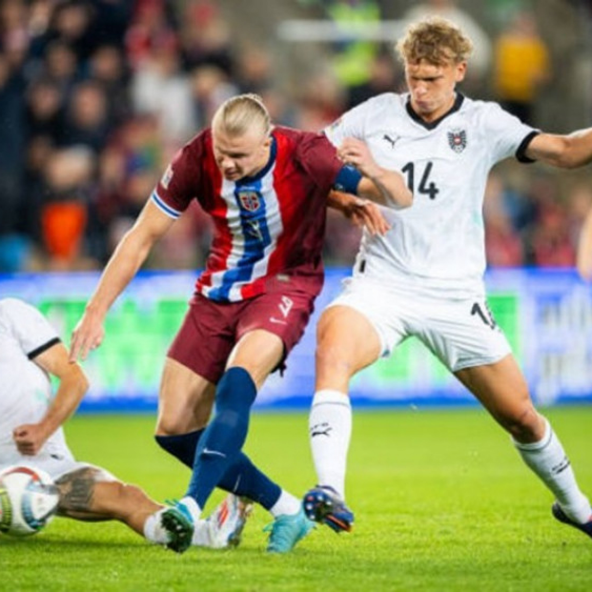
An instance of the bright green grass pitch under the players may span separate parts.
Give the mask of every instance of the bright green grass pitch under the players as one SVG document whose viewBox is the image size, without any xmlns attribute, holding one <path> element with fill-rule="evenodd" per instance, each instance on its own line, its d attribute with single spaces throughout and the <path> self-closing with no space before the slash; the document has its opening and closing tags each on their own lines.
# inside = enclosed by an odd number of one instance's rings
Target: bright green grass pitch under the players
<svg viewBox="0 0 592 592">
<path fill-rule="evenodd" d="M 592 495 L 592 407 L 545 413 Z M 79 459 L 180 496 L 188 471 L 157 449 L 153 423 L 81 416 L 67 436 Z M 247 451 L 298 496 L 314 484 L 305 413 L 255 414 Z M 480 409 L 356 412 L 348 501 L 350 535 L 322 527 L 285 556 L 265 554 L 260 508 L 240 548 L 184 555 L 118 523 L 56 519 L 0 538 L 0 590 L 592 590 L 592 540 L 551 518 L 551 494 Z"/>
</svg>

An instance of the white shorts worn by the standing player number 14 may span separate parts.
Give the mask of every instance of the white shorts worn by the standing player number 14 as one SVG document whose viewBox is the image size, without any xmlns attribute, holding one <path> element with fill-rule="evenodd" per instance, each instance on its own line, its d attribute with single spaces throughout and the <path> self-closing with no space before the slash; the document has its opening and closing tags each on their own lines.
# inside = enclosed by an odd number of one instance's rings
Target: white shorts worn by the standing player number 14
<svg viewBox="0 0 592 592">
<path fill-rule="evenodd" d="M 511 353 L 483 297 L 447 299 L 387 289 L 368 278 L 349 278 L 329 306 L 363 314 L 376 330 L 382 357 L 417 337 L 451 372 L 500 361 Z"/>
</svg>

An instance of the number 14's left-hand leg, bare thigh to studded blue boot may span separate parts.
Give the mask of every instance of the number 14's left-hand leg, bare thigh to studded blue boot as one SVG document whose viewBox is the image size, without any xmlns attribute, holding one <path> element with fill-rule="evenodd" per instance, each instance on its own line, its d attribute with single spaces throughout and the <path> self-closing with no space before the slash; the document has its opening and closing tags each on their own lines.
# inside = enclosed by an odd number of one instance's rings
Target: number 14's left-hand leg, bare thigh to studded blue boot
<svg viewBox="0 0 592 592">
<path fill-rule="evenodd" d="M 335 532 L 352 528 L 353 513 L 345 505 L 345 474 L 352 432 L 349 381 L 380 355 L 378 334 L 355 309 L 335 305 L 317 326 L 316 388 L 309 417 L 310 445 L 318 485 L 303 500 L 311 520 Z"/>
</svg>

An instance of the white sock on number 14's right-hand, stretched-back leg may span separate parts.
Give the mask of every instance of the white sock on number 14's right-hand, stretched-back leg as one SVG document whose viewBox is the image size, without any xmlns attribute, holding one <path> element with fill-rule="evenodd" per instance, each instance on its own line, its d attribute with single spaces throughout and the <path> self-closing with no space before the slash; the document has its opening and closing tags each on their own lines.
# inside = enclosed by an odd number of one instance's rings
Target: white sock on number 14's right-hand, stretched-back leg
<svg viewBox="0 0 592 592">
<path fill-rule="evenodd" d="M 590 520 L 590 502 L 575 482 L 570 459 L 546 419 L 545 435 L 540 442 L 523 444 L 514 440 L 514 446 L 524 462 L 555 494 L 559 506 L 568 517 L 581 524 Z"/>
</svg>

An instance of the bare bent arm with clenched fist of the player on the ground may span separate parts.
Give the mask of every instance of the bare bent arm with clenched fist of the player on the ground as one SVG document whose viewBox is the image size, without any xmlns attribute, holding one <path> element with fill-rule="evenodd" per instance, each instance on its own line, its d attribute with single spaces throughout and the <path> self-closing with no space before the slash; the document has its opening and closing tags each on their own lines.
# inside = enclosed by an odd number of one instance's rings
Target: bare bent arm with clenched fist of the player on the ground
<svg viewBox="0 0 592 592">
<path fill-rule="evenodd" d="M 49 438 L 76 411 L 88 390 L 88 380 L 78 363 L 70 363 L 63 343 L 33 358 L 38 366 L 59 380 L 56 396 L 38 423 L 23 424 L 12 431 L 17 449 L 24 455 L 36 455 Z"/>
</svg>

